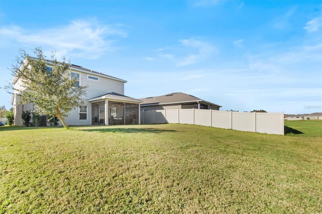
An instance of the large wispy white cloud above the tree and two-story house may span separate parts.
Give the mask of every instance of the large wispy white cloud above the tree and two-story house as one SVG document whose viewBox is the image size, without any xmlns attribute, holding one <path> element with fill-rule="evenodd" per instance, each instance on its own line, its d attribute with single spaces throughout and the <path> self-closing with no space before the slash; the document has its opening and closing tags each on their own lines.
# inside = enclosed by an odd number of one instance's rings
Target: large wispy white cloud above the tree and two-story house
<svg viewBox="0 0 322 214">
<path fill-rule="evenodd" d="M 0 35 L 24 45 L 56 50 L 57 58 L 66 55 L 97 58 L 105 51 L 116 49 L 113 45 L 116 38 L 127 36 L 117 26 L 100 25 L 95 19 L 75 20 L 69 25 L 39 30 L 23 29 L 17 26 L 3 27 L 0 29 Z"/>
</svg>

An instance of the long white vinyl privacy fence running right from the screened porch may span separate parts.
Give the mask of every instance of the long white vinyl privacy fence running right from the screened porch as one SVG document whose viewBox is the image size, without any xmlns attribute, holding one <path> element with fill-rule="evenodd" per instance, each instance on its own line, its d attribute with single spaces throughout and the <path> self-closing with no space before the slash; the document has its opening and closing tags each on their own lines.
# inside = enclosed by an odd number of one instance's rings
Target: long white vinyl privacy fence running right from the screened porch
<svg viewBox="0 0 322 214">
<path fill-rule="evenodd" d="M 284 135 L 284 113 L 175 109 L 143 111 L 141 124 L 193 124 L 246 132 Z"/>
</svg>

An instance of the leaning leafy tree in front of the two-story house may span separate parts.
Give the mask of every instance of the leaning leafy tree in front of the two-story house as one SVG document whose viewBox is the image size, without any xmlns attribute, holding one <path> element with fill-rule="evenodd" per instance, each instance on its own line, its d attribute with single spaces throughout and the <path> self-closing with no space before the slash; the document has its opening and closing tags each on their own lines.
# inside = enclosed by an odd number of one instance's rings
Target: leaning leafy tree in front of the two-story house
<svg viewBox="0 0 322 214">
<path fill-rule="evenodd" d="M 14 88 L 18 103 L 33 103 L 38 114 L 58 117 L 68 128 L 64 118 L 83 102 L 87 87 L 76 85 L 77 80 L 70 76 L 69 61 L 57 61 L 54 52 L 51 60 L 45 59 L 39 47 L 34 49 L 37 58 L 24 50 L 20 54 L 12 67 L 12 75 L 21 80 L 21 87 Z"/>
</svg>

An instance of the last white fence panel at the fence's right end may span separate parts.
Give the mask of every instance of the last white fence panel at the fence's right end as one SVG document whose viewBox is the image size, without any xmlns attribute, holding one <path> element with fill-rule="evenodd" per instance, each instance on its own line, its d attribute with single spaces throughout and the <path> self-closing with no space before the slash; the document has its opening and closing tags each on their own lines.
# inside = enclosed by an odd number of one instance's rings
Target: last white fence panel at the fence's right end
<svg viewBox="0 0 322 214">
<path fill-rule="evenodd" d="M 256 113 L 256 132 L 284 135 L 284 113 Z"/>
</svg>

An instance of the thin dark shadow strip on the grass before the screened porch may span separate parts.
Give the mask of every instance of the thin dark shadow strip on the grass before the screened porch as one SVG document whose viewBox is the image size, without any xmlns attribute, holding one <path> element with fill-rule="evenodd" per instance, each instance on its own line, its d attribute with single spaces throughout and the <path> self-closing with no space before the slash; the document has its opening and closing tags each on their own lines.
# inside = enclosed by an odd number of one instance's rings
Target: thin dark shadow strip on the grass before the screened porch
<svg viewBox="0 0 322 214">
<path fill-rule="evenodd" d="M 102 128 L 102 129 L 82 129 L 85 132 L 101 133 L 164 133 L 177 132 L 176 130 L 154 129 L 154 128 Z"/>
</svg>

